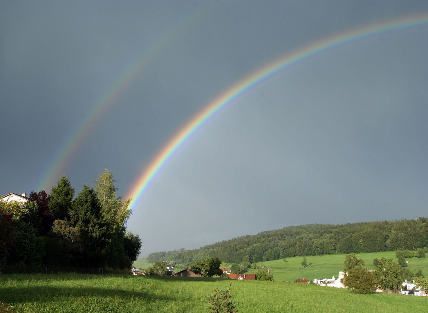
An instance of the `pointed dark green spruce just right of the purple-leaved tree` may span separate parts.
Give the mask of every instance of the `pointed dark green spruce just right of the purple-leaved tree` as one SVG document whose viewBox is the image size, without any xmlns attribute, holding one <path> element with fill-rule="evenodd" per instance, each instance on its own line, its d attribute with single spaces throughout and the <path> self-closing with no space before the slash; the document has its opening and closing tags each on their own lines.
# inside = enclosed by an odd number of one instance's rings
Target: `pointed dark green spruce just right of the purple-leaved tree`
<svg viewBox="0 0 428 313">
<path fill-rule="evenodd" d="M 71 188 L 70 180 L 65 175 L 59 178 L 58 183 L 52 186 L 49 211 L 53 219 L 67 219 L 68 210 L 71 209 L 71 202 L 74 197 L 74 187 Z"/>
</svg>

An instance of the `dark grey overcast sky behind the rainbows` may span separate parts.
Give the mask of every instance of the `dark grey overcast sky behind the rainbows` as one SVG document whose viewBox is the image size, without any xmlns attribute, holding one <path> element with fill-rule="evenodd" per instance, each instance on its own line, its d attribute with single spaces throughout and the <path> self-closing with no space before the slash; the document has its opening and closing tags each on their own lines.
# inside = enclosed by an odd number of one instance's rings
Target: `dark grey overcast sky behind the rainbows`
<svg viewBox="0 0 428 313">
<path fill-rule="evenodd" d="M 1 1 L 0 194 L 49 165 L 136 60 L 59 172 L 127 195 L 217 95 L 308 44 L 427 1 Z M 290 225 L 428 216 L 428 26 L 357 41 L 248 92 L 174 154 L 128 229 L 151 252 Z M 43 186 L 50 192 L 53 182 Z"/>
</svg>

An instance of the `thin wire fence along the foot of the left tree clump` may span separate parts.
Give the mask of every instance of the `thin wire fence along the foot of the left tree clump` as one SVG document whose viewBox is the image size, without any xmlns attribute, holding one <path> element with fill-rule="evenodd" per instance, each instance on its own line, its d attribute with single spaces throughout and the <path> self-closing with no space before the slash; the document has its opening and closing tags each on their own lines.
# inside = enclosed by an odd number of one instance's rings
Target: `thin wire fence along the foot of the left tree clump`
<svg viewBox="0 0 428 313">
<path fill-rule="evenodd" d="M 103 269 L 92 267 L 52 267 L 52 266 L 0 266 L 2 274 L 129 274 L 126 269 Z"/>
</svg>

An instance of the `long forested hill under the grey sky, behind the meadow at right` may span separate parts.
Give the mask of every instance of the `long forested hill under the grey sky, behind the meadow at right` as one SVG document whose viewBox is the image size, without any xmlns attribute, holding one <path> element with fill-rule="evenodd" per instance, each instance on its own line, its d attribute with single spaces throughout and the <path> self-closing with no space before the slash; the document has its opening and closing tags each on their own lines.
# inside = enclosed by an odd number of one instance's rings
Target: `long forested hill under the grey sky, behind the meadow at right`
<svg viewBox="0 0 428 313">
<path fill-rule="evenodd" d="M 149 263 L 173 260 L 190 264 L 207 257 L 226 263 L 254 263 L 285 257 L 335 253 L 414 250 L 428 247 L 428 218 L 352 224 L 307 224 L 269 230 L 206 245 L 199 249 L 149 254 Z"/>
</svg>

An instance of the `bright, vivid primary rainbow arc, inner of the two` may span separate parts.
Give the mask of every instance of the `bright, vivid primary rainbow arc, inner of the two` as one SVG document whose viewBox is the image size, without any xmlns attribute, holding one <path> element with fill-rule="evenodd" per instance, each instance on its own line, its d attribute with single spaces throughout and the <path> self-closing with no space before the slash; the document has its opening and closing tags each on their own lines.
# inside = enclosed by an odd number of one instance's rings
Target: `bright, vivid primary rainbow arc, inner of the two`
<svg viewBox="0 0 428 313">
<path fill-rule="evenodd" d="M 173 136 L 168 144 L 163 147 L 129 192 L 127 198 L 133 198 L 131 209 L 138 204 L 156 174 L 158 174 L 162 166 L 165 165 L 168 159 L 171 158 L 174 152 L 177 151 L 186 139 L 188 139 L 194 132 L 196 132 L 196 130 L 199 129 L 199 127 L 201 127 L 221 109 L 233 103 L 243 94 L 246 94 L 256 86 L 259 86 L 270 77 L 275 76 L 279 72 L 284 71 L 293 65 L 304 62 L 310 58 L 320 55 L 321 53 L 326 53 L 345 44 L 350 44 L 376 35 L 384 35 L 389 32 L 408 30 L 416 27 L 426 27 L 427 24 L 428 15 L 423 15 L 416 18 L 406 18 L 399 21 L 376 24 L 345 32 L 297 50 L 296 52 L 270 63 L 241 80 L 202 109 L 202 111 L 187 122 L 187 124 L 185 124 L 184 127 L 175 134 L 175 136 Z"/>
</svg>

